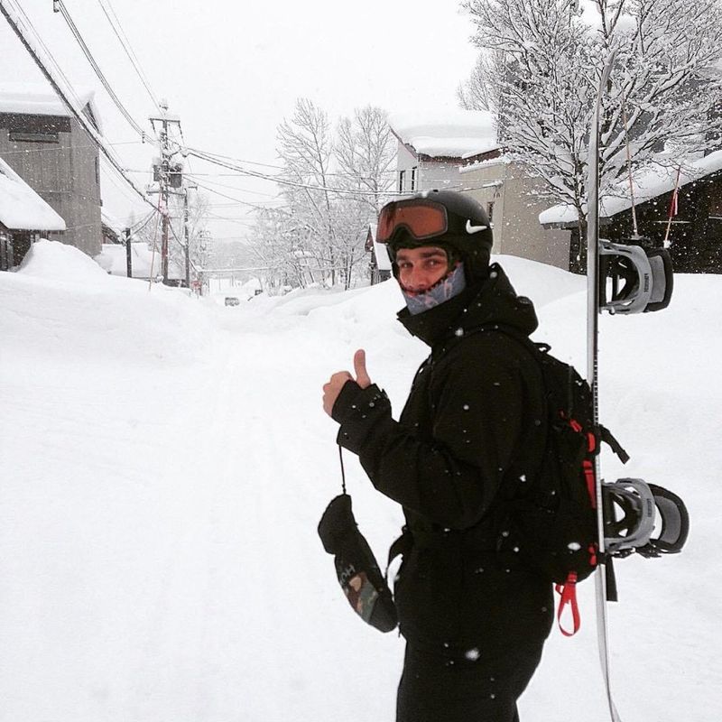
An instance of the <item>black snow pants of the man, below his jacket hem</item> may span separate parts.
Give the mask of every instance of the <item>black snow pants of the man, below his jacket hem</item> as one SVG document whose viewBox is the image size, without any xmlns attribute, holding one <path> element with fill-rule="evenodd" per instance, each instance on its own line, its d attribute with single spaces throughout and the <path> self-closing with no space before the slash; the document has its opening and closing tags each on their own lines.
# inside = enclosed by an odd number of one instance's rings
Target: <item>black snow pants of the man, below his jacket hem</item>
<svg viewBox="0 0 722 722">
<path fill-rule="evenodd" d="M 396 722 L 518 722 L 516 700 L 542 659 L 542 643 L 485 657 L 407 643 Z"/>
</svg>

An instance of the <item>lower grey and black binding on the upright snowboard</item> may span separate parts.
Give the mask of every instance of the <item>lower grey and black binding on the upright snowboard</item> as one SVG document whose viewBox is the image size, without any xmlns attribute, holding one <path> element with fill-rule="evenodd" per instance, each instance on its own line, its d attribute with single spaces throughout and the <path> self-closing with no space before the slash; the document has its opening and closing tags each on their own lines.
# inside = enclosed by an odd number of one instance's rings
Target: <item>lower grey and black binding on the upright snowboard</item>
<svg viewBox="0 0 722 722">
<path fill-rule="evenodd" d="M 636 551 L 647 559 L 682 550 L 690 515 L 680 497 L 642 479 L 624 478 L 602 486 L 605 550 L 612 557 Z"/>
</svg>

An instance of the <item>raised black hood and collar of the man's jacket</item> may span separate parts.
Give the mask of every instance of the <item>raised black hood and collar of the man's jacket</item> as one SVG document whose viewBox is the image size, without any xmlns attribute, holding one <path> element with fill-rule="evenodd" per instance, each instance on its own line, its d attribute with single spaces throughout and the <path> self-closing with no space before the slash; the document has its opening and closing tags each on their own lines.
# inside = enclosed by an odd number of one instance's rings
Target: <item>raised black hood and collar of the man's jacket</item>
<svg viewBox="0 0 722 722">
<path fill-rule="evenodd" d="M 405 329 L 433 347 L 449 338 L 486 324 L 500 324 L 519 329 L 529 336 L 539 322 L 532 301 L 517 296 L 504 269 L 489 266 L 488 278 L 433 309 L 412 316 L 408 309 L 398 313 Z"/>
</svg>

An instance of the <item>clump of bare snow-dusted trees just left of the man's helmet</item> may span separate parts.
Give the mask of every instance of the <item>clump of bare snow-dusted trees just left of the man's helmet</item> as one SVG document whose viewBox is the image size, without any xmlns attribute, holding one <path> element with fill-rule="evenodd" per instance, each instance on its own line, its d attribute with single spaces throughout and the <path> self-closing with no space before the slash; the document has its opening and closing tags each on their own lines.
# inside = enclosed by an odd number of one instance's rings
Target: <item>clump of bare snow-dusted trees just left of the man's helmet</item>
<svg viewBox="0 0 722 722">
<path fill-rule="evenodd" d="M 349 288 L 366 270 L 368 224 L 393 184 L 395 142 L 383 110 L 357 109 L 331 130 L 326 113 L 297 101 L 278 129 L 283 162 L 282 212 L 260 213 L 254 228 L 259 253 L 281 263 L 287 282 L 342 282 Z M 269 234 L 273 233 L 274 238 Z"/>
</svg>

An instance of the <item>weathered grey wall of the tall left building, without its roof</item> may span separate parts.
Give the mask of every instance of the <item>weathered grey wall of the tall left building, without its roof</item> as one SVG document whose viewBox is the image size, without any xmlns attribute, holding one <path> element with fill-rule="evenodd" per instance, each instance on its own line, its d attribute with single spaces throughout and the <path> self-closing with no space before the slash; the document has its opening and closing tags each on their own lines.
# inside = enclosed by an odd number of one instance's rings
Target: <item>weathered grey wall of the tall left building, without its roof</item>
<svg viewBox="0 0 722 722">
<path fill-rule="evenodd" d="M 0 114 L 0 156 L 65 221 L 67 230 L 48 234 L 51 239 L 100 253 L 98 151 L 77 120 Z"/>
</svg>

